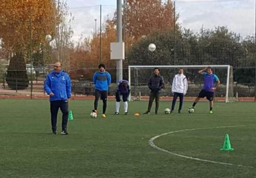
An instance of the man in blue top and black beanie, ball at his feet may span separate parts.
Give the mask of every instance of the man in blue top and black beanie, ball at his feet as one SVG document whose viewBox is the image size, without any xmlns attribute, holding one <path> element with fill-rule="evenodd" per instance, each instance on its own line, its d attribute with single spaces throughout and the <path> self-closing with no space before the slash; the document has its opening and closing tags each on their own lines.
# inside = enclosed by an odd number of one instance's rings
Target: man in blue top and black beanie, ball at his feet
<svg viewBox="0 0 256 178">
<path fill-rule="evenodd" d="M 95 100 L 94 100 L 94 110 L 92 112 L 97 112 L 98 101 L 101 97 L 103 102 L 103 112 L 101 117 L 106 117 L 106 109 L 107 109 L 107 90 L 109 90 L 109 86 L 111 83 L 111 76 L 109 72 L 105 70 L 105 65 L 101 63 L 99 65 L 99 71 L 93 74 L 93 83 L 95 85 Z"/>
</svg>

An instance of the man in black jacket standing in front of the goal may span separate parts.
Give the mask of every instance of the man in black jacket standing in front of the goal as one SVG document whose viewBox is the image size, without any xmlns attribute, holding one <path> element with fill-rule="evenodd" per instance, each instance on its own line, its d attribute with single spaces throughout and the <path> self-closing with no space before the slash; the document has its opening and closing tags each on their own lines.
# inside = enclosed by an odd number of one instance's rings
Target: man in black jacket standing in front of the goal
<svg viewBox="0 0 256 178">
<path fill-rule="evenodd" d="M 150 110 L 152 107 L 152 103 L 155 99 L 155 102 L 156 102 L 155 114 L 157 115 L 161 89 L 164 88 L 164 78 L 160 75 L 159 68 L 154 68 L 154 75 L 150 77 L 148 85 L 149 85 L 149 89 L 151 90 L 150 97 L 149 97 L 149 106 L 147 107 L 147 111 L 144 112 L 144 114 L 151 115 Z"/>
</svg>

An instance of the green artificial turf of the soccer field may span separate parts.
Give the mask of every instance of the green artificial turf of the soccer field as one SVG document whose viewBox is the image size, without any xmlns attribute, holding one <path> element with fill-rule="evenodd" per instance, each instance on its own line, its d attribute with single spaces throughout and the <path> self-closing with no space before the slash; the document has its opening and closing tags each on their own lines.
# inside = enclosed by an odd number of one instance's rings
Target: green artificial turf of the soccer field
<svg viewBox="0 0 256 178">
<path fill-rule="evenodd" d="M 115 101 L 107 104 L 106 118 L 90 118 L 93 101 L 71 101 L 74 120 L 64 136 L 61 112 L 58 134 L 51 135 L 49 101 L 0 100 L 0 177 L 256 177 L 254 102 L 216 102 L 212 115 L 206 102 L 193 114 L 186 112 L 191 102 L 185 102 L 183 113 L 176 106 L 166 115 L 170 102 L 161 101 L 159 115 L 154 105 L 152 115 L 142 115 L 147 102 L 135 101 L 127 116 L 122 102 L 119 116 L 113 114 Z M 154 140 L 169 152 L 149 145 L 151 137 L 171 131 L 179 132 Z M 220 151 L 226 133 L 234 151 Z"/>
</svg>

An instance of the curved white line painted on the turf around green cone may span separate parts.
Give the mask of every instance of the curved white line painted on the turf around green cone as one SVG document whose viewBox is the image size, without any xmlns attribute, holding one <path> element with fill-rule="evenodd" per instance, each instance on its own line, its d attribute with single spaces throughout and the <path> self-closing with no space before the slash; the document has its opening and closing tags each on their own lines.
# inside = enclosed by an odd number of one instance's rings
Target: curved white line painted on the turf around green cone
<svg viewBox="0 0 256 178">
<path fill-rule="evenodd" d="M 196 160 L 196 161 L 204 161 L 204 162 L 211 162 L 214 164 L 221 164 L 221 165 L 231 165 L 231 166 L 238 166 L 238 167 L 248 167 L 248 168 L 254 168 L 253 166 L 243 166 L 243 165 L 235 165 L 232 163 L 228 163 L 228 162 L 219 162 L 219 161 L 211 161 L 211 160 L 204 160 L 204 159 L 199 159 L 197 157 L 191 157 L 191 156 L 185 156 L 185 155 L 180 155 L 180 154 L 176 154 L 175 152 L 171 152 L 165 149 L 161 149 L 160 147 L 156 146 L 154 144 L 154 140 L 158 139 L 161 136 L 165 136 L 171 133 L 176 133 L 176 132 L 184 132 L 184 131 L 191 131 L 191 130 L 203 130 L 203 129 L 213 129 L 213 128 L 228 128 L 228 127 L 245 127 L 247 125 L 237 125 L 237 126 L 219 126 L 219 127 L 204 127 L 204 128 L 189 128 L 189 129 L 183 129 L 183 130 L 176 130 L 176 131 L 171 131 L 171 132 L 167 132 L 167 133 L 162 133 L 160 135 L 154 136 L 149 140 L 149 145 L 152 146 L 153 148 L 160 150 L 160 151 L 164 151 L 167 152 L 168 154 L 174 155 L 174 156 L 179 156 L 179 157 L 183 157 L 185 159 L 190 159 L 190 160 Z"/>
</svg>

